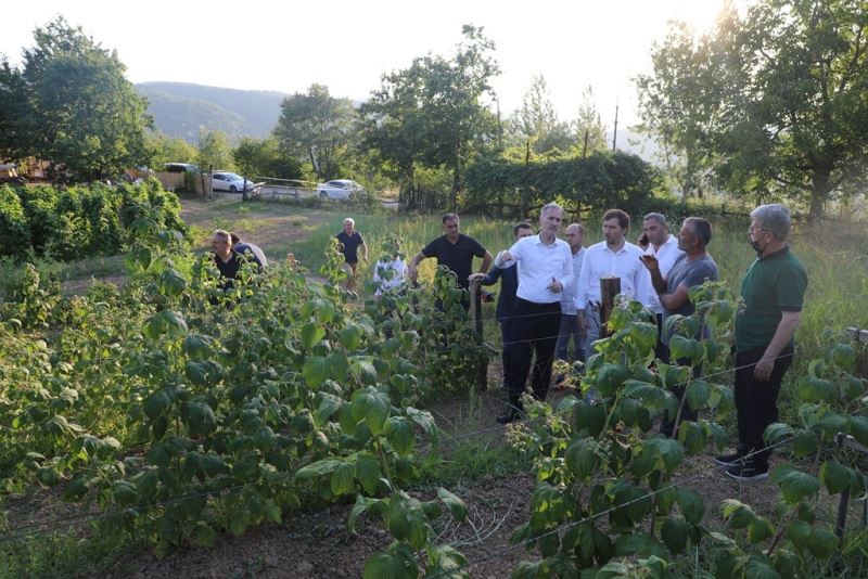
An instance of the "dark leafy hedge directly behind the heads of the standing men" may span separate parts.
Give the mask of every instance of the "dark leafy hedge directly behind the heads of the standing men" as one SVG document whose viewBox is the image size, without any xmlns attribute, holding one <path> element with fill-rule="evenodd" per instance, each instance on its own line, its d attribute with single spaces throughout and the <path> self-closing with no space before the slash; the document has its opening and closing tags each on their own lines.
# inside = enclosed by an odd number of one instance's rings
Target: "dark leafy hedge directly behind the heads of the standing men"
<svg viewBox="0 0 868 579">
<path fill-rule="evenodd" d="M 583 209 L 640 213 L 663 189 L 658 169 L 620 151 L 529 163 L 482 157 L 468 167 L 464 204 L 471 211 L 513 217 L 560 196 L 580 203 Z"/>
</svg>

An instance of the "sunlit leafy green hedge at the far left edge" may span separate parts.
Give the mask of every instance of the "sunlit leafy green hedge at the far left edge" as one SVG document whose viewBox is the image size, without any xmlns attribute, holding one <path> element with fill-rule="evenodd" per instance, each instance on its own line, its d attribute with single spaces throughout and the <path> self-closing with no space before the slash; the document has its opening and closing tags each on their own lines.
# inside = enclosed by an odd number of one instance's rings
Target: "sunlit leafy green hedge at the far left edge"
<svg viewBox="0 0 868 579">
<path fill-rule="evenodd" d="M 94 183 L 71 188 L 0 186 L 0 256 L 60 260 L 125 252 L 139 233 L 130 224 L 148 217 L 183 231 L 178 197 L 155 180 L 140 185 Z"/>
</svg>

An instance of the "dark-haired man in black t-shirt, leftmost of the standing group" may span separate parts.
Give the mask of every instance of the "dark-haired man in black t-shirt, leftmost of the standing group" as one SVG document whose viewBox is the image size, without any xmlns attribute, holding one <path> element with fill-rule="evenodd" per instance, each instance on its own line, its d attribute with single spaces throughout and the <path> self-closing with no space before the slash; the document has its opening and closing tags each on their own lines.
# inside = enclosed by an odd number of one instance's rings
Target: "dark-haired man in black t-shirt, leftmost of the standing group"
<svg viewBox="0 0 868 579">
<path fill-rule="evenodd" d="M 429 257 L 436 257 L 437 265 L 449 268 L 458 278 L 456 282 L 459 287 L 467 290 L 470 283 L 468 278 L 473 272 L 473 257 L 482 258 L 480 273 L 488 271 L 488 266 L 492 265 L 494 258 L 480 242 L 459 232 L 456 214 L 443 216 L 443 230 L 445 235 L 433 240 L 413 256 L 407 268 L 407 274 L 414 282 L 419 275 L 419 262 Z"/>
</svg>

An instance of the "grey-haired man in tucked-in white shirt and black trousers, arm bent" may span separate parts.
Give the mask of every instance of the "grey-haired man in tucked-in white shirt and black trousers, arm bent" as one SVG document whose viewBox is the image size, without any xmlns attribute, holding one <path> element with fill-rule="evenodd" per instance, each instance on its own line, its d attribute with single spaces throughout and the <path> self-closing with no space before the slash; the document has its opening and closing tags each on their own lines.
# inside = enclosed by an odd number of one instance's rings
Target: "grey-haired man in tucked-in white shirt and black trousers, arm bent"
<svg viewBox="0 0 868 579">
<path fill-rule="evenodd" d="M 510 331 L 514 342 L 510 346 L 507 373 L 510 408 L 498 416 L 501 424 L 522 416 L 521 395 L 527 383 L 534 351 L 534 397 L 545 400 L 549 389 L 561 322 L 561 294 L 573 283 L 570 246 L 558 239 L 562 219 L 561 206 L 547 204 L 539 214 L 539 234 L 516 241 L 495 259 L 495 266 L 499 268 L 510 267 L 514 260 L 519 270 L 519 290 Z"/>
</svg>

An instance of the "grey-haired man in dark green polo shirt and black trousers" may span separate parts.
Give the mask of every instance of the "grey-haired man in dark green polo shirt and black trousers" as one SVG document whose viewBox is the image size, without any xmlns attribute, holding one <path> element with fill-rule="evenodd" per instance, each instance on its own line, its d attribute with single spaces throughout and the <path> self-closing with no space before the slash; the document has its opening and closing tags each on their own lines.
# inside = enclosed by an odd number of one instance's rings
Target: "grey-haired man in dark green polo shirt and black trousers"
<svg viewBox="0 0 868 579">
<path fill-rule="evenodd" d="M 736 316 L 736 410 L 739 446 L 716 456 L 737 480 L 768 477 L 766 426 L 778 421 L 778 393 L 793 362 L 793 335 L 807 287 L 805 268 L 784 242 L 790 211 L 780 204 L 751 211 L 748 234 L 756 250 L 741 281 L 744 307 Z"/>
</svg>

